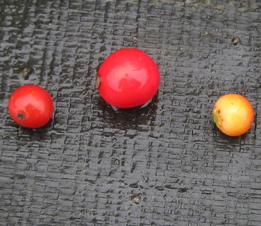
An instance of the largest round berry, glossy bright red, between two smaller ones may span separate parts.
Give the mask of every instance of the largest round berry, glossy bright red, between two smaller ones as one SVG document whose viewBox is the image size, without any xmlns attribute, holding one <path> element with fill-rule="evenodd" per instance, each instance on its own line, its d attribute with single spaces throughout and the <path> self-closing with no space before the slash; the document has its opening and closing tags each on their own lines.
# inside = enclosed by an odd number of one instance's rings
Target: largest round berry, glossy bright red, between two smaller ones
<svg viewBox="0 0 261 226">
<path fill-rule="evenodd" d="M 153 98 L 160 85 L 160 72 L 153 59 L 137 48 L 115 51 L 101 64 L 96 87 L 110 105 L 130 108 Z"/>
</svg>

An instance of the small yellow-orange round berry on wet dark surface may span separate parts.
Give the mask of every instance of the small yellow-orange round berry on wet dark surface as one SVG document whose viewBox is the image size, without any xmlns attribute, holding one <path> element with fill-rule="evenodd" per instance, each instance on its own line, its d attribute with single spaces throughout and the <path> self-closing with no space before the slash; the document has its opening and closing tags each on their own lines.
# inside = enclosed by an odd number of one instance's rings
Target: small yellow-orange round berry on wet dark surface
<svg viewBox="0 0 261 226">
<path fill-rule="evenodd" d="M 240 136 L 251 128 L 254 110 L 244 96 L 226 94 L 221 96 L 213 108 L 214 123 L 228 136 Z"/>
</svg>

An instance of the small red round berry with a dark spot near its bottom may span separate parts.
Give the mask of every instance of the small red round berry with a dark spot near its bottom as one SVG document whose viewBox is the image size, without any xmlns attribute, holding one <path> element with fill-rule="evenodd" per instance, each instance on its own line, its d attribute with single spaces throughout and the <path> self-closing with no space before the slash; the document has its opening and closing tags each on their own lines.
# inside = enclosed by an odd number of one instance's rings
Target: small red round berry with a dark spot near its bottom
<svg viewBox="0 0 261 226">
<path fill-rule="evenodd" d="M 9 98 L 8 111 L 19 125 L 39 128 L 45 125 L 53 114 L 53 99 L 42 87 L 23 85 L 15 89 Z"/>
</svg>

